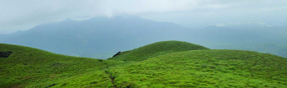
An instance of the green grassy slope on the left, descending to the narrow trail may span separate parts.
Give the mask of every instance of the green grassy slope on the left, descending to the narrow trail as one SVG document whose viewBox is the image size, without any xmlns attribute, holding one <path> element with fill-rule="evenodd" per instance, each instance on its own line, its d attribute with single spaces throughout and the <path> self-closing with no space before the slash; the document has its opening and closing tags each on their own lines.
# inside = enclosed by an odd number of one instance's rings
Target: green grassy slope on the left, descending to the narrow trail
<svg viewBox="0 0 287 88">
<path fill-rule="evenodd" d="M 54 54 L 36 48 L 0 44 L 13 53 L 0 58 L 0 88 L 6 87 L 113 87 L 104 69 L 123 61 Z"/>
</svg>

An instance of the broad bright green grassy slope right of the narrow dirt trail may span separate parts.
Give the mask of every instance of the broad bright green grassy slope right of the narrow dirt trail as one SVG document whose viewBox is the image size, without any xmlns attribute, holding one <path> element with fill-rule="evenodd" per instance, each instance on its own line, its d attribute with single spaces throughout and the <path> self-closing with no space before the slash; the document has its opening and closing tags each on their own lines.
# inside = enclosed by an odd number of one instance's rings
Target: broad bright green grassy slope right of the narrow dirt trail
<svg viewBox="0 0 287 88">
<path fill-rule="evenodd" d="M 111 69 L 117 87 L 287 88 L 287 59 L 243 50 L 191 50 Z"/>
</svg>

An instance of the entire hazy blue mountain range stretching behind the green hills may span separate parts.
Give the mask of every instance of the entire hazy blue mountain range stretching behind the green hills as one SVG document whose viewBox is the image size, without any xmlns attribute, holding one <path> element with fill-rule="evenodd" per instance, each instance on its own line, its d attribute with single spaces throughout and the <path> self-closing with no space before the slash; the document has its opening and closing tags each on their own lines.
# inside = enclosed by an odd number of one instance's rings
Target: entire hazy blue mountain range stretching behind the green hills
<svg viewBox="0 0 287 88">
<path fill-rule="evenodd" d="M 58 54 L 104 59 L 119 51 L 165 40 L 186 41 L 211 49 L 253 50 L 287 57 L 287 48 L 282 48 L 287 46 L 286 34 L 285 26 L 251 29 L 208 26 L 191 29 L 138 16 L 115 16 L 40 24 L 30 30 L 0 35 L 0 42 Z"/>
</svg>

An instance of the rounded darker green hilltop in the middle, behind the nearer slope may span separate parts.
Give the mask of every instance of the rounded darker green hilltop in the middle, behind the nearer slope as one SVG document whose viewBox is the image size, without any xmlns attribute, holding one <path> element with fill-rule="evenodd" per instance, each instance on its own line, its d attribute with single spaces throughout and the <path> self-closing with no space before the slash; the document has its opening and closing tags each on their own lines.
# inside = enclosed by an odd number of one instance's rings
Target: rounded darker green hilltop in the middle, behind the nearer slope
<svg viewBox="0 0 287 88">
<path fill-rule="evenodd" d="M 121 52 L 120 55 L 117 55 L 113 58 L 109 58 L 109 60 L 143 61 L 148 58 L 160 56 L 163 54 L 203 49 L 208 48 L 188 42 L 162 41 L 148 44 L 134 50 Z"/>
</svg>

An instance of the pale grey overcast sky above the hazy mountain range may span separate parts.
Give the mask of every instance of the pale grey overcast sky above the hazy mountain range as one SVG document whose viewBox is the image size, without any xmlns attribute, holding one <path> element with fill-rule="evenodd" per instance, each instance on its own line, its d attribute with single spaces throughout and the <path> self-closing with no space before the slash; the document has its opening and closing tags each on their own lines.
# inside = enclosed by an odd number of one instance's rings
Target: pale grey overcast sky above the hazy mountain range
<svg viewBox="0 0 287 88">
<path fill-rule="evenodd" d="M 287 24 L 287 0 L 0 0 L 0 34 L 96 16 L 138 15 L 189 28 Z"/>
</svg>

